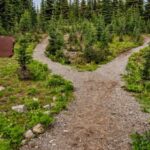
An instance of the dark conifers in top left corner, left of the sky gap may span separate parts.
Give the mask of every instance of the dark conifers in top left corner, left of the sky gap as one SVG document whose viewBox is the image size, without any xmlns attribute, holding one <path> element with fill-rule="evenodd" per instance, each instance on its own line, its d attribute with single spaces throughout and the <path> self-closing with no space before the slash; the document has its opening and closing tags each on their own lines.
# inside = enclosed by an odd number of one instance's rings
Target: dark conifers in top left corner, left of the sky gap
<svg viewBox="0 0 150 150">
<path fill-rule="evenodd" d="M 0 0 L 0 32 L 30 31 L 36 23 L 32 0 Z"/>
</svg>

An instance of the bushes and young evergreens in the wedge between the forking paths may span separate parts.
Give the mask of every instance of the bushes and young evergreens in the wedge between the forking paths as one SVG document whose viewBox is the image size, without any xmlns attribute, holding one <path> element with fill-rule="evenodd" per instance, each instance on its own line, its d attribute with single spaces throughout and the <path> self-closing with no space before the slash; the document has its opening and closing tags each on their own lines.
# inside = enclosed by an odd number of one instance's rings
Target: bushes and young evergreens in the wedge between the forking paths
<svg viewBox="0 0 150 150">
<path fill-rule="evenodd" d="M 142 44 L 142 20 L 137 12 L 129 10 L 128 13 L 130 18 L 126 14 L 118 15 L 123 21 L 114 18 L 108 25 L 101 15 L 72 22 L 51 20 L 46 55 L 81 71 L 95 70 L 98 65 Z"/>
</svg>

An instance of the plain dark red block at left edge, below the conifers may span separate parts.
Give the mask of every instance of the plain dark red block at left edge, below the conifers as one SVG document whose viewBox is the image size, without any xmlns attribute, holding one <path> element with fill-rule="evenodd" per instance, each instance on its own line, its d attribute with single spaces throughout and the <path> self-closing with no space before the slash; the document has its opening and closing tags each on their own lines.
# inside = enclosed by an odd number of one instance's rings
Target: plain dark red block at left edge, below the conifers
<svg viewBox="0 0 150 150">
<path fill-rule="evenodd" d="M 0 57 L 11 57 L 14 54 L 15 39 L 11 36 L 0 36 Z"/>
</svg>

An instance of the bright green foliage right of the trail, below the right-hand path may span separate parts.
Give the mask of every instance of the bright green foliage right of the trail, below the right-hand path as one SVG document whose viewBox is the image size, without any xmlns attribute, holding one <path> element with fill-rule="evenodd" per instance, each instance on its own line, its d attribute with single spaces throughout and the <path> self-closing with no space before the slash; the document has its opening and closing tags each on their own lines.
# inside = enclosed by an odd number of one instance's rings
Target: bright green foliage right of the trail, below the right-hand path
<svg viewBox="0 0 150 150">
<path fill-rule="evenodd" d="M 138 101 L 145 112 L 150 112 L 150 82 L 148 78 L 147 80 L 143 78 L 146 66 L 145 54 L 148 54 L 149 50 L 149 47 L 145 48 L 130 57 L 127 74 L 125 75 L 127 90 L 136 93 Z"/>
</svg>

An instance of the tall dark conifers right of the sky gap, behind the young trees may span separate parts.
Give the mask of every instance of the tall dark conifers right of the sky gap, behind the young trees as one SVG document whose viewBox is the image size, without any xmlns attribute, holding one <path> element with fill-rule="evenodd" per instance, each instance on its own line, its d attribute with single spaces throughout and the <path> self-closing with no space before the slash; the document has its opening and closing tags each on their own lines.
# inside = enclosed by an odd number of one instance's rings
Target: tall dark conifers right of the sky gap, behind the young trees
<svg viewBox="0 0 150 150">
<path fill-rule="evenodd" d="M 90 19 L 93 15 L 103 14 L 106 22 L 111 21 L 113 14 L 128 9 L 137 9 L 145 19 L 150 19 L 150 1 L 143 0 L 42 0 L 41 15 L 46 20 L 53 17 L 85 17 Z"/>
</svg>

